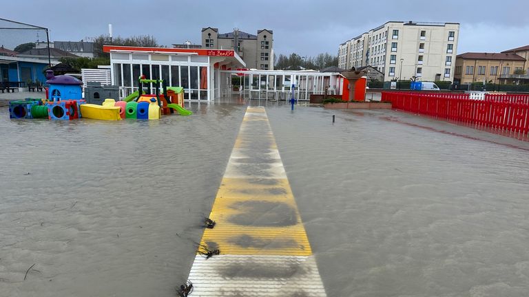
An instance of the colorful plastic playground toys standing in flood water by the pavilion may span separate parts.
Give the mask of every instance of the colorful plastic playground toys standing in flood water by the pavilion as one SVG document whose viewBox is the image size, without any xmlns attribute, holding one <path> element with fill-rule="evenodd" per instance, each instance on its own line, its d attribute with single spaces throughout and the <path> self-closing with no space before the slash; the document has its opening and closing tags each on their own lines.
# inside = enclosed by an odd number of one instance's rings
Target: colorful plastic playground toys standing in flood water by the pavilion
<svg viewBox="0 0 529 297">
<path fill-rule="evenodd" d="M 45 99 L 26 98 L 12 101 L 9 114 L 12 119 L 48 118 L 49 120 L 74 120 L 90 118 L 94 120 L 158 120 L 162 115 L 177 111 L 180 115 L 191 115 L 184 108 L 182 87 L 167 87 L 163 80 L 138 78 L 138 91 L 123 100 L 107 98 L 99 104 L 87 103 L 82 98 L 81 80 L 73 76 L 54 76 L 46 72 L 46 83 L 50 85 Z M 155 94 L 146 94 L 143 84 L 153 84 Z M 161 92 L 160 92 L 161 89 Z M 161 94 L 160 94 L 161 93 Z"/>
</svg>

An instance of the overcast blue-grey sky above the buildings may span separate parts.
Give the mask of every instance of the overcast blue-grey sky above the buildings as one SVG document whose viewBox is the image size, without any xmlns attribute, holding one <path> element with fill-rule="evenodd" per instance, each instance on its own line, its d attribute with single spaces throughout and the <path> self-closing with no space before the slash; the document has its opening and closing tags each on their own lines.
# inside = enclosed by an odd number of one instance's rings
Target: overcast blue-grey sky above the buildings
<svg viewBox="0 0 529 297">
<path fill-rule="evenodd" d="M 1 0 L 0 18 L 50 29 L 52 41 L 151 34 L 158 43 L 200 43 L 203 27 L 273 30 L 274 51 L 315 56 L 386 21 L 461 23 L 458 54 L 529 45 L 529 1 Z M 1 39 L 1 36 L 0 36 Z"/>
</svg>

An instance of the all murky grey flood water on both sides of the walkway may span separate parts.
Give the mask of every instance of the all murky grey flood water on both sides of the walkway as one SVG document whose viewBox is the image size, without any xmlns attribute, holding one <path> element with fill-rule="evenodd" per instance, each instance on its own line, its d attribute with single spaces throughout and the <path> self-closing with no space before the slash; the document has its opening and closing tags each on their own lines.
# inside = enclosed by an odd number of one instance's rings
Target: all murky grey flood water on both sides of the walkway
<svg viewBox="0 0 529 297">
<path fill-rule="evenodd" d="M 176 296 L 245 107 L 0 109 L 0 296 Z M 527 295 L 526 142 L 395 111 L 267 113 L 328 296 Z"/>
</svg>

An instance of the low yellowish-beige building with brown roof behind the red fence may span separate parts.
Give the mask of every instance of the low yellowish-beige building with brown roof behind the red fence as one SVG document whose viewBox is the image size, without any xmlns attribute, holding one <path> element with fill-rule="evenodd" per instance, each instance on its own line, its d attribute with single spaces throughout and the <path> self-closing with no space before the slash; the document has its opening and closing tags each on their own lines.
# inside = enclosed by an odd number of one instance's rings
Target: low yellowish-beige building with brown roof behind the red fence
<svg viewBox="0 0 529 297">
<path fill-rule="evenodd" d="M 529 51 L 529 50 L 528 50 Z M 527 53 L 526 53 L 527 54 Z M 501 53 L 467 52 L 457 55 L 454 83 L 511 84 L 523 79 L 527 59 L 506 51 Z M 518 81 L 518 83 L 520 83 Z"/>
</svg>

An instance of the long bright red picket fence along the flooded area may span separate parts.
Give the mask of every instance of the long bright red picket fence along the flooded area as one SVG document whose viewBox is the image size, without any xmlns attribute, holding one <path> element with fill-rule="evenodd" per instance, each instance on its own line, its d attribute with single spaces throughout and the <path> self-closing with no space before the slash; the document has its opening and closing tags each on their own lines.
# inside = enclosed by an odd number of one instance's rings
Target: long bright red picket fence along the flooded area
<svg viewBox="0 0 529 297">
<path fill-rule="evenodd" d="M 468 94 L 382 92 L 382 101 L 391 102 L 393 109 L 524 140 L 529 133 L 529 95 L 486 94 L 484 100 L 475 100 Z"/>
</svg>

